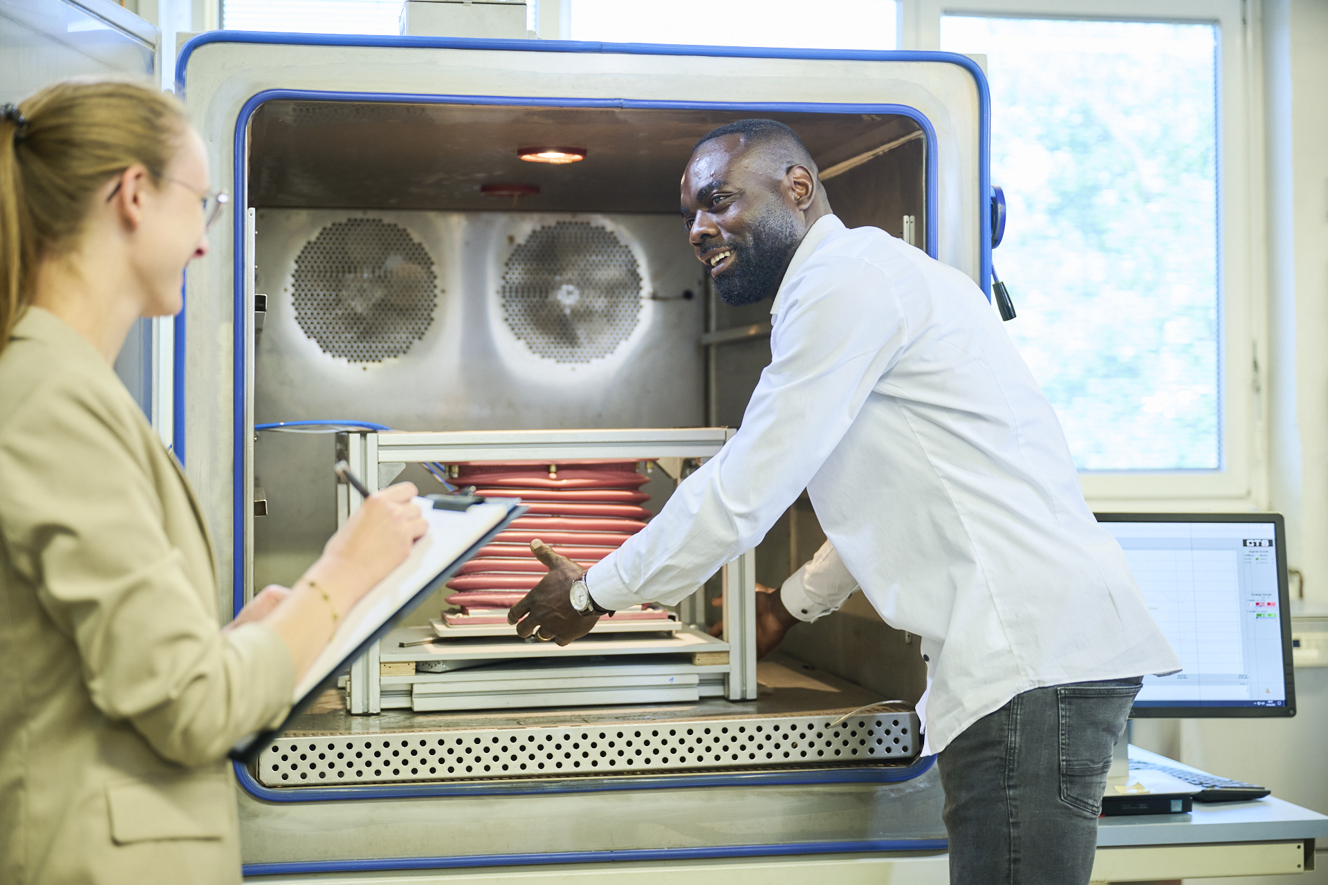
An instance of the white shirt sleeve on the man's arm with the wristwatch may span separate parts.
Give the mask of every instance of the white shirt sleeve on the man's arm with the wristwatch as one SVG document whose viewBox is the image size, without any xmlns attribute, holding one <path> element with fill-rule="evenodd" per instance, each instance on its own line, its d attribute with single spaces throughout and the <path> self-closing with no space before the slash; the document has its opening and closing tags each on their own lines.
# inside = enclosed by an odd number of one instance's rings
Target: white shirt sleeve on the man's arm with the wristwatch
<svg viewBox="0 0 1328 885">
<path fill-rule="evenodd" d="M 608 609 L 676 604 L 756 547 L 839 444 L 906 342 L 886 273 L 857 257 L 813 255 L 781 293 L 770 365 L 741 430 L 647 528 L 590 569 L 595 601 Z"/>
</svg>

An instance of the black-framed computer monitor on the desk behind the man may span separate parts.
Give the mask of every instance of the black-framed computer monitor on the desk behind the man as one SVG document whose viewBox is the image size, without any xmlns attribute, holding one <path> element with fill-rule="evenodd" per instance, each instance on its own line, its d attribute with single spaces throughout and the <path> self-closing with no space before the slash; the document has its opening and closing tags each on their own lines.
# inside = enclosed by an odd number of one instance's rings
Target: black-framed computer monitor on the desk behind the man
<svg viewBox="0 0 1328 885">
<path fill-rule="evenodd" d="M 1179 673 L 1143 677 L 1135 718 L 1293 716 L 1280 513 L 1097 513 Z"/>
</svg>

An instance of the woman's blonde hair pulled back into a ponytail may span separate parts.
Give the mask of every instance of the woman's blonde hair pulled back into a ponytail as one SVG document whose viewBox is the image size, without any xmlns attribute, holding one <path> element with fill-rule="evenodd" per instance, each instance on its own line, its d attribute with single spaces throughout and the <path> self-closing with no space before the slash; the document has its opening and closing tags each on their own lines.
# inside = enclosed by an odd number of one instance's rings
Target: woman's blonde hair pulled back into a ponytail
<svg viewBox="0 0 1328 885">
<path fill-rule="evenodd" d="M 112 176 L 134 163 L 162 175 L 187 126 L 173 96 L 126 80 L 64 80 L 0 109 L 0 350 L 37 261 L 76 245 Z"/>
</svg>

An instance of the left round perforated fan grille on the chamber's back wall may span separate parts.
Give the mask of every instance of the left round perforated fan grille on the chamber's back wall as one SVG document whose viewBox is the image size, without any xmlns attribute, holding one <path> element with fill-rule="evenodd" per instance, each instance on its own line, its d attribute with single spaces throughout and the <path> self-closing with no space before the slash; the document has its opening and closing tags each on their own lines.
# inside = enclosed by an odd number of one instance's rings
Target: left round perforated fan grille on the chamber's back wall
<svg viewBox="0 0 1328 885">
<path fill-rule="evenodd" d="M 295 320 L 323 352 L 351 362 L 400 357 L 438 303 L 433 259 L 406 228 L 372 218 L 328 224 L 295 259 Z"/>
</svg>

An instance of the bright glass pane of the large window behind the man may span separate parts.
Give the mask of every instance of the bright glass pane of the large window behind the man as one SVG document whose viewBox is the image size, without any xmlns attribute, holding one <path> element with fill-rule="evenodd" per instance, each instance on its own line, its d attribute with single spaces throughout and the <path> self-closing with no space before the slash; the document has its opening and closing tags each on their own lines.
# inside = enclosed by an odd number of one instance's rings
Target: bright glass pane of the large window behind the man
<svg viewBox="0 0 1328 885">
<path fill-rule="evenodd" d="M 944 16 L 984 52 L 1007 329 L 1080 470 L 1222 467 L 1216 27 Z"/>
</svg>

